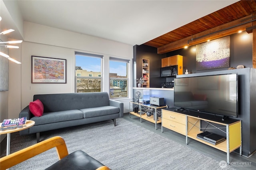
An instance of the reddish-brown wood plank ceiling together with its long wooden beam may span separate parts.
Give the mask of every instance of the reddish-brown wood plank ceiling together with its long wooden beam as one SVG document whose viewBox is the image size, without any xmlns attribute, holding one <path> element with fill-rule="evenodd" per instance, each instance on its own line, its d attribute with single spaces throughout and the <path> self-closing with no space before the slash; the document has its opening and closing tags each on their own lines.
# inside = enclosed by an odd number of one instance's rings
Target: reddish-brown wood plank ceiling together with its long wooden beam
<svg viewBox="0 0 256 170">
<path fill-rule="evenodd" d="M 232 26 L 232 24 L 230 23 L 232 22 L 234 23 L 233 25 L 237 25 L 241 22 L 246 22 L 248 20 L 249 21 L 255 20 L 256 19 L 255 13 L 256 13 L 256 0 L 241 0 L 234 4 L 231 4 L 230 6 L 222 8 L 216 12 L 213 12 L 212 14 L 209 14 L 198 20 L 190 22 L 189 24 L 186 24 L 180 28 L 177 28 L 176 30 L 168 32 L 158 38 L 150 40 L 149 42 L 146 42 L 144 44 L 152 47 L 157 47 L 158 53 L 166 53 L 176 49 L 181 49 L 182 47 L 184 47 L 184 41 L 182 42 L 182 40 L 186 40 L 187 42 L 188 40 L 191 40 L 191 38 L 205 36 L 205 35 L 208 35 L 210 32 L 213 32 L 213 31 L 216 32 L 216 30 L 225 29 L 227 27 L 230 28 L 230 26 Z M 252 22 L 250 22 L 250 25 L 248 24 L 244 25 L 243 30 L 246 30 L 245 27 L 249 27 L 249 26 L 252 26 Z M 205 33 L 202 34 L 202 32 L 205 32 Z M 232 34 L 234 34 L 234 31 Z M 215 38 L 219 38 L 219 37 L 215 37 Z M 204 41 L 206 40 L 202 40 L 197 43 L 202 43 Z M 183 43 L 183 44 L 179 45 L 179 43 Z M 191 45 L 194 45 L 194 44 L 191 44 Z M 176 46 L 176 47 L 172 48 L 172 46 Z"/>
</svg>

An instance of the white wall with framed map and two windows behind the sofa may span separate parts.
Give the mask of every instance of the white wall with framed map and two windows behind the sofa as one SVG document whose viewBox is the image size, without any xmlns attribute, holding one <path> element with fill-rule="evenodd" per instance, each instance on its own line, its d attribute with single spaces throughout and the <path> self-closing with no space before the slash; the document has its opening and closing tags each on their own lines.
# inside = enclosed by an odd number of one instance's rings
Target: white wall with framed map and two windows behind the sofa
<svg viewBox="0 0 256 170">
<path fill-rule="evenodd" d="M 11 79 L 21 79 L 21 81 L 9 85 L 10 88 L 13 89 L 19 89 L 17 86 L 20 86 L 20 98 L 17 97 L 18 92 L 11 93 L 9 98 L 15 99 L 15 103 L 18 103 L 17 100 L 20 100 L 21 105 L 14 105 L 14 103 L 10 101 L 9 106 L 12 107 L 14 112 L 9 112 L 9 117 L 18 117 L 20 110 L 33 100 L 34 94 L 74 92 L 74 51 L 101 54 L 104 55 L 106 61 L 108 61 L 109 56 L 126 59 L 132 59 L 133 57 L 132 45 L 24 22 L 24 42 L 21 44 L 21 73 L 16 68 L 16 72 L 10 75 Z M 19 57 L 19 54 L 15 55 L 16 58 Z M 31 83 L 31 55 L 66 59 L 67 83 Z M 103 65 L 103 74 L 107 73 L 107 75 L 103 75 L 105 77 L 105 79 L 103 79 L 105 83 L 103 91 L 108 92 L 109 83 L 108 77 L 106 78 L 106 76 L 108 76 L 108 62 L 104 63 L 106 64 Z M 132 87 L 132 85 L 130 85 L 130 87 Z M 121 101 L 124 102 L 124 112 L 128 112 L 128 101 L 130 101 L 130 99 Z"/>
</svg>

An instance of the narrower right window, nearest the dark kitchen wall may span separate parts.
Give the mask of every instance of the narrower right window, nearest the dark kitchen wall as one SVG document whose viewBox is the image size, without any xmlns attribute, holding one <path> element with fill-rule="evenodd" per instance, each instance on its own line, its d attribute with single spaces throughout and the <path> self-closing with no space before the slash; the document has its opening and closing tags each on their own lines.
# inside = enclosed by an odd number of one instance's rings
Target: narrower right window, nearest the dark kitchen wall
<svg viewBox="0 0 256 170">
<path fill-rule="evenodd" d="M 130 60 L 110 57 L 109 79 L 110 98 L 128 97 L 128 66 Z"/>
</svg>

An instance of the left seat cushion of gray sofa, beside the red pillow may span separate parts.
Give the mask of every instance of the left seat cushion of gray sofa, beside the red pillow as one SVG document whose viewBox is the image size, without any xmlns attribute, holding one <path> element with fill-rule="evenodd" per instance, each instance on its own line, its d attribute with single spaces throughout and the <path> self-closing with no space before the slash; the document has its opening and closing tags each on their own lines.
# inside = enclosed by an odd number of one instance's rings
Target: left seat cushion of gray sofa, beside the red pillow
<svg viewBox="0 0 256 170">
<path fill-rule="evenodd" d="M 83 117 L 84 117 L 84 114 L 81 111 L 69 110 L 69 111 L 44 113 L 43 116 L 32 117 L 30 120 L 35 121 L 35 125 L 43 125 L 48 123 L 83 119 Z"/>
</svg>

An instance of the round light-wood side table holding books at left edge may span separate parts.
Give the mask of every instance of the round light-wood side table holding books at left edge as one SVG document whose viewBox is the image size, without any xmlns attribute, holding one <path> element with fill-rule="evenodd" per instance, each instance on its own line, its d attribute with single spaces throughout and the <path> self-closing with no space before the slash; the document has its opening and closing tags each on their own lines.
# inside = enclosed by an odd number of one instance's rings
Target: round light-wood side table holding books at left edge
<svg viewBox="0 0 256 170">
<path fill-rule="evenodd" d="M 2 123 L 0 123 L 1 127 Z M 20 130 L 24 130 L 26 128 L 30 128 L 33 125 L 35 125 L 34 121 L 27 120 L 26 124 L 20 125 L 23 126 L 22 128 L 14 128 L 14 129 L 8 129 L 8 130 L 0 130 L 0 134 L 7 134 L 7 145 L 6 145 L 6 155 L 10 154 L 10 139 L 11 139 L 11 133 L 18 132 Z"/>
</svg>

